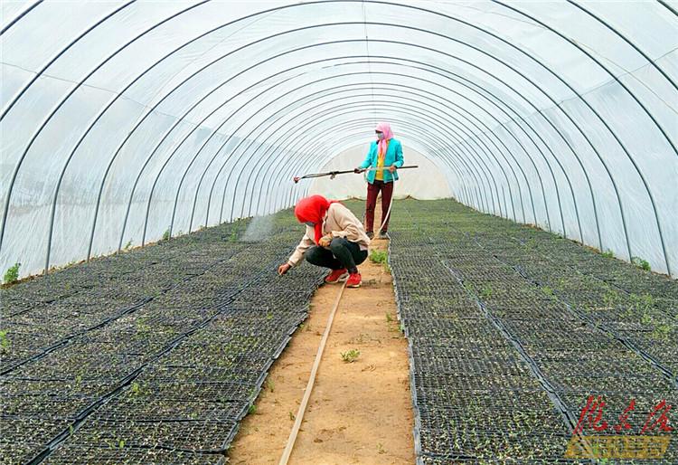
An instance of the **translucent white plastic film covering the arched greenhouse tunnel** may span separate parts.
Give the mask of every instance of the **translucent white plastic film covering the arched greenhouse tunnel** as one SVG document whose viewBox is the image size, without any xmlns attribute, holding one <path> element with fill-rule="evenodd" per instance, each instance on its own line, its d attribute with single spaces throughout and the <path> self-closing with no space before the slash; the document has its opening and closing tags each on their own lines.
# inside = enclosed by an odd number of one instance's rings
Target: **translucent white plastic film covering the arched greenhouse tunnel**
<svg viewBox="0 0 678 465">
<path fill-rule="evenodd" d="M 0 8 L 3 270 L 286 208 L 383 119 L 440 192 L 678 272 L 671 3 Z"/>
</svg>

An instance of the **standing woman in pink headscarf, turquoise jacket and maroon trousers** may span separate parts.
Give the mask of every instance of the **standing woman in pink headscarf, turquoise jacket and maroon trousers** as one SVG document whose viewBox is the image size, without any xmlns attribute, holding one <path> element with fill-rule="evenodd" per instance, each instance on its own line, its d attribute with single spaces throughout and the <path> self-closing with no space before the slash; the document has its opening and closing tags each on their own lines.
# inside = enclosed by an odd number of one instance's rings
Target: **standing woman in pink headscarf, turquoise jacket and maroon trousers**
<svg viewBox="0 0 678 465">
<path fill-rule="evenodd" d="M 402 159 L 402 145 L 400 140 L 393 138 L 391 126 L 389 123 L 379 123 L 374 132 L 377 133 L 377 140 L 370 145 L 370 151 L 361 164 L 354 169 L 356 173 L 363 173 L 366 168 L 381 168 L 388 166 L 388 169 L 370 170 L 367 173 L 367 204 L 365 205 L 365 231 L 367 236 L 374 237 L 374 207 L 377 205 L 377 195 L 381 192 L 381 233 L 380 239 L 388 239 L 389 220 L 391 212 L 391 196 L 393 195 L 393 181 L 398 180 L 396 168 L 400 168 L 404 161 Z"/>
</svg>

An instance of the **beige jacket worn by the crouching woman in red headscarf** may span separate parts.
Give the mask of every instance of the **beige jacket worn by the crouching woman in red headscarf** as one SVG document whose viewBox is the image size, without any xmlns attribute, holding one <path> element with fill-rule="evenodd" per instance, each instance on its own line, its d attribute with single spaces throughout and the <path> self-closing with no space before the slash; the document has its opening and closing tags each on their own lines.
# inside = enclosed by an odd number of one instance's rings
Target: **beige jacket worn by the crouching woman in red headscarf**
<svg viewBox="0 0 678 465">
<path fill-rule="evenodd" d="M 358 242 L 361 251 L 366 251 L 370 245 L 370 238 L 365 233 L 363 223 L 343 204 L 330 204 L 323 221 L 323 234 L 332 234 L 332 237 L 344 237 L 348 241 Z M 297 250 L 292 253 L 287 263 L 291 266 L 296 266 L 304 257 L 304 253 L 308 248 L 315 245 L 314 238 L 314 229 L 306 226 L 304 237 L 301 238 L 301 242 L 297 245 Z"/>
</svg>

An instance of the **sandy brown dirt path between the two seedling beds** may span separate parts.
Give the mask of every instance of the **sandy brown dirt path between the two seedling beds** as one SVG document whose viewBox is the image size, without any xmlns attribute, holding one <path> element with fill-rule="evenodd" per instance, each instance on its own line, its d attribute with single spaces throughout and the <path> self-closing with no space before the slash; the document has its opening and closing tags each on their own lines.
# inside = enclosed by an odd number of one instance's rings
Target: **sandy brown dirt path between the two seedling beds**
<svg viewBox="0 0 678 465">
<path fill-rule="evenodd" d="M 372 250 L 387 246 L 372 242 Z M 414 463 L 407 341 L 391 274 L 369 259 L 359 268 L 363 286 L 344 290 L 290 464 Z M 293 271 L 284 279 L 294 279 Z M 338 291 L 325 285 L 315 293 L 304 327 L 271 368 L 256 413 L 240 425 L 231 464 L 280 460 Z M 341 353 L 351 349 L 360 356 L 345 363 Z"/>
</svg>

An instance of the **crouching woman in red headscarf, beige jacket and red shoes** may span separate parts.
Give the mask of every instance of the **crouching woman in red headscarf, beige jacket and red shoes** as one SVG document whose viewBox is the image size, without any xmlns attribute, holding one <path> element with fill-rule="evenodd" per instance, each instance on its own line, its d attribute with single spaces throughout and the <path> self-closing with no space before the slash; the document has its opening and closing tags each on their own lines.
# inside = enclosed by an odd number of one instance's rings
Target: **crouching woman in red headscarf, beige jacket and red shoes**
<svg viewBox="0 0 678 465">
<path fill-rule="evenodd" d="M 343 204 L 322 195 L 301 199 L 295 207 L 299 223 L 306 224 L 306 233 L 287 263 L 278 267 L 285 274 L 302 258 L 311 264 L 330 269 L 326 283 L 346 281 L 346 287 L 359 288 L 362 279 L 358 265 L 367 258 L 370 239 L 363 223 Z"/>
</svg>

